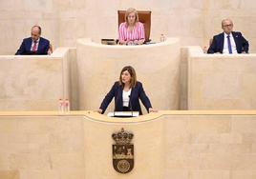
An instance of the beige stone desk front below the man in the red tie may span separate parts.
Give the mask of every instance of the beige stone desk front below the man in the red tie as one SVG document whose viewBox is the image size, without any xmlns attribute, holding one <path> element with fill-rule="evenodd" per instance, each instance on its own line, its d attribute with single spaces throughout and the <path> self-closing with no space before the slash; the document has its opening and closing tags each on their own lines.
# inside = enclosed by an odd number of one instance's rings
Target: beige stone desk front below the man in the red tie
<svg viewBox="0 0 256 179">
<path fill-rule="evenodd" d="M 70 98 L 69 49 L 53 55 L 0 55 L 1 110 L 57 110 Z"/>
</svg>

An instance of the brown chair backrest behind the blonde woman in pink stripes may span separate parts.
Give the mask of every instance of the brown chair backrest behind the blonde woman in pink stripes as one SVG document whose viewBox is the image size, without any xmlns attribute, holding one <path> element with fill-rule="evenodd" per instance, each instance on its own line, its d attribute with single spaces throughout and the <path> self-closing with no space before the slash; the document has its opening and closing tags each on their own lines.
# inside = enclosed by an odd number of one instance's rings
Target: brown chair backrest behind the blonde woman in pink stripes
<svg viewBox="0 0 256 179">
<path fill-rule="evenodd" d="M 121 23 L 125 22 L 126 10 L 117 10 L 118 14 L 118 27 Z M 151 11 L 150 10 L 138 10 L 139 22 L 144 25 L 145 29 L 145 42 L 149 41 L 150 28 L 151 28 Z"/>
</svg>

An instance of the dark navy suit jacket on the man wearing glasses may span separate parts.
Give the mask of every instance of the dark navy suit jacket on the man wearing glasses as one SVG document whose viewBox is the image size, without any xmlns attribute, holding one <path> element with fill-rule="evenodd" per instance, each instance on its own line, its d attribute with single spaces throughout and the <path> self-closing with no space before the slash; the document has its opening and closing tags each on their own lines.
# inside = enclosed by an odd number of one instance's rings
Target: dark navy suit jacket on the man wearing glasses
<svg viewBox="0 0 256 179">
<path fill-rule="evenodd" d="M 242 33 L 238 31 L 232 31 L 232 35 L 236 43 L 237 52 L 242 53 L 245 51 L 247 53 L 249 50 L 249 44 L 248 44 L 248 41 L 245 40 L 245 37 L 243 37 Z M 208 49 L 207 53 L 216 53 L 216 52 L 223 53 L 223 50 L 224 50 L 224 32 L 218 35 L 215 35 L 213 37 L 212 44 Z"/>
</svg>

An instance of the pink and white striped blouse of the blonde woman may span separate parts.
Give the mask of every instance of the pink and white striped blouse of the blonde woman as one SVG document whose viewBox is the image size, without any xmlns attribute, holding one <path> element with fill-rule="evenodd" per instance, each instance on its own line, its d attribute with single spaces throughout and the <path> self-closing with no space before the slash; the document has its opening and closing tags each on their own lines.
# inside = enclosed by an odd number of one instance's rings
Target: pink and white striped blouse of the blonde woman
<svg viewBox="0 0 256 179">
<path fill-rule="evenodd" d="M 145 39 L 144 25 L 140 22 L 136 24 L 133 30 L 128 31 L 126 22 L 121 23 L 119 26 L 119 41 L 134 41 Z"/>
</svg>

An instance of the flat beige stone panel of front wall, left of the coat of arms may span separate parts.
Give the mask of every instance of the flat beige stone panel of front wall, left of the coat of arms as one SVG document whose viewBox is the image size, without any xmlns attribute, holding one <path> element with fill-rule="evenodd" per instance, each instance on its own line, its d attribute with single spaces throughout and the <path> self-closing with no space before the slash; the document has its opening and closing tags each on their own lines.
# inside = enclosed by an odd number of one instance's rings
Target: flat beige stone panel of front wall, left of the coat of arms
<svg viewBox="0 0 256 179">
<path fill-rule="evenodd" d="M 82 118 L 50 116 L 1 117 L 1 179 L 84 178 Z"/>
</svg>

